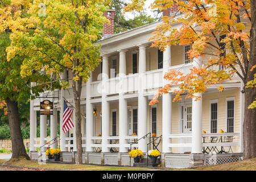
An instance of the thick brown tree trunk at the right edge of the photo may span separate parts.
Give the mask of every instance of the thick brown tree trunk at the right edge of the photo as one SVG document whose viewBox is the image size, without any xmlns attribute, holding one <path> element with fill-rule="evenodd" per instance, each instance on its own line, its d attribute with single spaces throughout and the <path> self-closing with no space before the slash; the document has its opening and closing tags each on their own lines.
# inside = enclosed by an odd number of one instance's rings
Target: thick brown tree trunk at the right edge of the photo
<svg viewBox="0 0 256 182">
<path fill-rule="evenodd" d="M 251 30 L 250 30 L 250 61 L 246 82 L 253 80 L 256 69 L 250 71 L 256 64 L 256 2 L 251 0 Z M 243 122 L 243 154 L 245 159 L 256 157 L 256 109 L 247 109 L 255 100 L 256 89 L 245 88 L 245 119 Z"/>
</svg>

